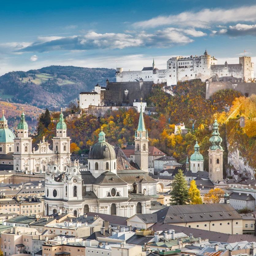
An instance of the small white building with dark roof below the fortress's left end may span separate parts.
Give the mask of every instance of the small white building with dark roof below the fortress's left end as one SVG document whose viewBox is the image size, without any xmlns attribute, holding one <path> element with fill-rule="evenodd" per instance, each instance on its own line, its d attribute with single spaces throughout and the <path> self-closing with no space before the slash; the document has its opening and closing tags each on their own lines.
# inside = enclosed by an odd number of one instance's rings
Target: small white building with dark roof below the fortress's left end
<svg viewBox="0 0 256 256">
<path fill-rule="evenodd" d="M 106 90 L 106 87 L 101 87 L 97 84 L 91 92 L 81 92 L 79 94 L 79 107 L 88 109 L 91 106 L 101 106 L 101 91 Z"/>
</svg>

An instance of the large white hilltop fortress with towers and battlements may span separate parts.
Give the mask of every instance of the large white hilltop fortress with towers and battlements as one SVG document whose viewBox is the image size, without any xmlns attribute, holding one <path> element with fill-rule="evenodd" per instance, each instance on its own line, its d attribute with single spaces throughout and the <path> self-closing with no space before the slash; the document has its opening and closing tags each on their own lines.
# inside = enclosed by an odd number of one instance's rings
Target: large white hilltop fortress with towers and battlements
<svg viewBox="0 0 256 256">
<path fill-rule="evenodd" d="M 144 82 L 166 83 L 167 86 L 176 85 L 178 81 L 201 79 L 206 81 L 212 76 L 239 78 L 242 82 L 248 82 L 254 78 L 254 63 L 251 57 L 239 57 L 239 64 L 217 64 L 217 59 L 205 50 L 201 56 L 172 57 L 167 60 L 166 69 L 155 67 L 143 67 L 141 71 L 123 71 L 118 67 L 116 71 L 117 82 L 134 82 L 143 79 Z"/>
</svg>

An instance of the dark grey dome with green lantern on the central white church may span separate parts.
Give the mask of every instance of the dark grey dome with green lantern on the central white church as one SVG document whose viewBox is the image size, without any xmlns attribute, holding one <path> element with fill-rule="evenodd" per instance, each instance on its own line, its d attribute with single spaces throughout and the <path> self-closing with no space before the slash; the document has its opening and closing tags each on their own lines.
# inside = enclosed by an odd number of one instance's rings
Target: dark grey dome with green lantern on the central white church
<svg viewBox="0 0 256 256">
<path fill-rule="evenodd" d="M 116 159 L 114 147 L 105 141 L 105 133 L 102 129 L 99 133 L 99 141 L 90 148 L 88 159 Z"/>
</svg>

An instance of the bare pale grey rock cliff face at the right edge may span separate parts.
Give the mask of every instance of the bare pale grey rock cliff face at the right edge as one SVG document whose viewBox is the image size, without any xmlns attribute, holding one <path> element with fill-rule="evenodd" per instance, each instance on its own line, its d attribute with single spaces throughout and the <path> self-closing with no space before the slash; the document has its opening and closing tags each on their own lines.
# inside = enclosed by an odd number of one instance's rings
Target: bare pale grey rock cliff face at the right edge
<svg viewBox="0 0 256 256">
<path fill-rule="evenodd" d="M 255 168 L 251 167 L 247 158 L 242 156 L 237 143 L 234 143 L 234 145 L 231 146 L 227 142 L 227 150 L 227 177 L 232 176 L 233 178 L 254 178 Z"/>
</svg>

